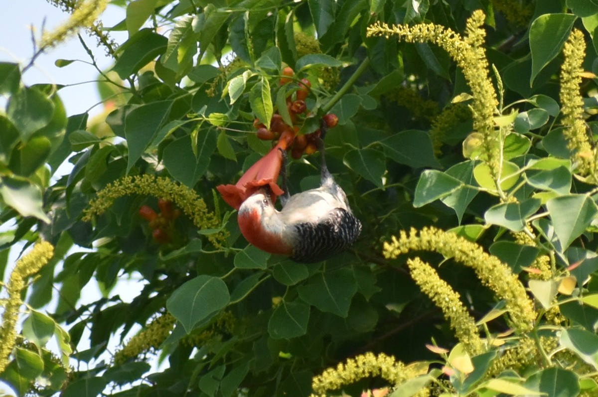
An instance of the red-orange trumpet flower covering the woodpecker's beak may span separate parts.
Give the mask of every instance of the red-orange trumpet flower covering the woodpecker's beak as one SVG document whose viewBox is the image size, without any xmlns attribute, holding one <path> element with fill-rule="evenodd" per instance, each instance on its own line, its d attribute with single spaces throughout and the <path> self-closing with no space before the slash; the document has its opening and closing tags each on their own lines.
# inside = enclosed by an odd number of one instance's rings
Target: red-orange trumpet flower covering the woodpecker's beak
<svg viewBox="0 0 598 397">
<path fill-rule="evenodd" d="M 234 185 L 218 185 L 216 189 L 222 195 L 224 201 L 234 209 L 239 209 L 243 201 L 255 193 L 260 187 L 269 185 L 273 194 L 273 200 L 280 196 L 282 189 L 276 184 L 280 167 L 282 167 L 282 153 L 279 149 L 286 151 L 295 139 L 295 132 L 286 130 L 280 136 L 278 143 L 264 157 L 256 161 L 254 165 L 241 176 L 239 182 Z"/>
</svg>

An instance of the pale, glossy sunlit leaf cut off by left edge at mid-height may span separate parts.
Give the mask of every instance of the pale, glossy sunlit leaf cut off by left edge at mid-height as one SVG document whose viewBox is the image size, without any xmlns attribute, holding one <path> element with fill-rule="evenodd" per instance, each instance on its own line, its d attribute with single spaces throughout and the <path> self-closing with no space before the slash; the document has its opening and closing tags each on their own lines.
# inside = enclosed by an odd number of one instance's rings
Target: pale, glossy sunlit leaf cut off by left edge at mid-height
<svg viewBox="0 0 598 397">
<path fill-rule="evenodd" d="M 13 207 L 23 216 L 35 216 L 46 223 L 50 218 L 42 210 L 41 189 L 23 179 L 4 176 L 0 178 L 0 195 L 8 206 Z"/>
</svg>

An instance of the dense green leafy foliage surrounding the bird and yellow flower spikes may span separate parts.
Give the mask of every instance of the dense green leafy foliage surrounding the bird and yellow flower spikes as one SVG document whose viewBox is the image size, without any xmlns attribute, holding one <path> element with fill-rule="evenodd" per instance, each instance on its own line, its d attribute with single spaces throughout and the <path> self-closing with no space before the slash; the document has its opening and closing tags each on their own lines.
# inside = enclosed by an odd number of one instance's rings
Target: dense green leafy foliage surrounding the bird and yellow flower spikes
<svg viewBox="0 0 598 397">
<path fill-rule="evenodd" d="M 0 64 L 0 93 L 8 97 L 0 113 L 0 220 L 16 222 L 0 236 L 0 274 L 11 271 L 8 250 L 17 243 L 44 239 L 56 247 L 30 279 L 0 374 L 19 395 L 307 396 L 315 375 L 366 352 L 423 371 L 401 384 L 353 374 L 332 395 L 386 386 L 395 397 L 598 393 L 598 1 L 113 3 L 127 17 L 112 29 L 129 38 L 115 48 L 100 37 L 115 59 L 99 75 L 112 106 L 105 120 L 67 115 L 61 87 L 26 87 L 27 66 Z M 475 10 L 486 16 L 478 47 L 491 65 L 480 78 L 490 77 L 499 99 L 486 103 L 494 148 L 474 131 L 468 106 L 479 98 L 472 101 L 466 74 L 446 51 L 367 35 L 382 21 L 434 23 L 465 36 Z M 572 29 L 585 42 L 576 119 L 563 115 L 571 103 L 560 94 Z M 86 48 L 92 62 L 104 50 Z M 280 85 L 287 65 L 297 80 Z M 313 132 L 328 112 L 338 115 L 327 160 L 364 225 L 352 249 L 313 265 L 248 246 L 236 214 L 215 193 L 269 151 L 254 119 L 283 112 L 301 78 L 312 90 L 300 133 Z M 568 143 L 571 120 L 583 123 L 588 150 Z M 71 175 L 51 179 L 64 161 L 74 165 Z M 293 161 L 291 193 L 315 187 L 318 169 L 318 156 Z M 134 178 L 118 182 L 127 175 Z M 141 175 L 161 179 L 135 179 Z M 107 186 L 118 197 L 84 220 Z M 201 200 L 191 201 L 189 190 Z M 159 212 L 160 198 L 183 210 L 167 219 L 163 244 L 138 214 L 143 205 Z M 414 255 L 383 256 L 391 236 L 429 225 L 477 242 L 518 274 L 535 302 L 531 331 L 507 332 L 517 325 L 505 302 L 470 268 L 418 252 L 480 320 L 484 353 L 457 344 L 404 265 Z M 113 288 L 129 276 L 144 288 L 125 302 Z M 80 304 L 92 279 L 103 297 Z M 144 331 L 129 340 L 135 325 Z M 89 341 L 81 340 L 84 330 Z M 60 352 L 47 349 L 51 337 Z M 123 348 L 109 351 L 108 341 Z M 81 350 L 83 342 L 90 348 Z M 166 369 L 151 369 L 148 351 Z"/>
</svg>

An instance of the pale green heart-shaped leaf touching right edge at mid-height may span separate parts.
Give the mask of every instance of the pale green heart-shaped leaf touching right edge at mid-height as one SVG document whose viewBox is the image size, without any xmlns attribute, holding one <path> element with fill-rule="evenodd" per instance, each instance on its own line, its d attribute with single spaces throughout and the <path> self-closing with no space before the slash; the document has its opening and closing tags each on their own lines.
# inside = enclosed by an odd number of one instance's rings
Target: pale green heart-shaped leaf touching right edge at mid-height
<svg viewBox="0 0 598 397">
<path fill-rule="evenodd" d="M 551 198 L 546 207 L 553 220 L 554 232 L 562 245 L 563 251 L 584 233 L 598 214 L 594 200 L 585 194 L 570 194 Z"/>
</svg>

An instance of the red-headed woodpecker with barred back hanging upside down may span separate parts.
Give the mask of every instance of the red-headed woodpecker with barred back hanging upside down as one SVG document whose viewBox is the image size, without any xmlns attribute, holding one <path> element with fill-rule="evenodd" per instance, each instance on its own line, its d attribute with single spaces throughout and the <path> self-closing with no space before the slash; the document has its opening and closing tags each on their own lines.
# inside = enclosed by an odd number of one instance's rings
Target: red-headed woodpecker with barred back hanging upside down
<svg viewBox="0 0 598 397">
<path fill-rule="evenodd" d="M 353 215 L 343 189 L 328 172 L 321 139 L 318 146 L 322 154 L 319 188 L 290 197 L 285 188 L 281 210 L 274 207 L 269 186 L 243 201 L 237 219 L 249 243 L 271 254 L 289 255 L 296 262 L 310 263 L 323 261 L 355 242 L 361 233 L 361 222 Z"/>
</svg>

